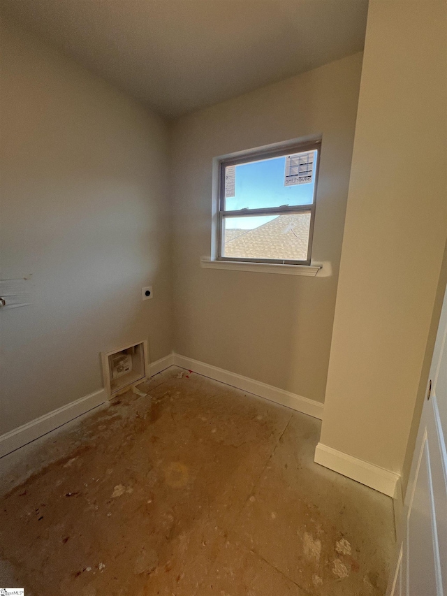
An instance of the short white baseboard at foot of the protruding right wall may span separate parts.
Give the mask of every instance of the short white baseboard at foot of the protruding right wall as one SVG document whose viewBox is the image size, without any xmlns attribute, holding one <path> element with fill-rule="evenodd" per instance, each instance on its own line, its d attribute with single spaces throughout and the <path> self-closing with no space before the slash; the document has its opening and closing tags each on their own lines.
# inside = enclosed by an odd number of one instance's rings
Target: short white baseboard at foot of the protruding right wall
<svg viewBox="0 0 447 596">
<path fill-rule="evenodd" d="M 339 472 L 348 478 L 365 484 L 379 493 L 396 497 L 400 490 L 400 475 L 383 467 L 349 456 L 343 451 L 318 443 L 315 449 L 315 462 Z"/>
</svg>

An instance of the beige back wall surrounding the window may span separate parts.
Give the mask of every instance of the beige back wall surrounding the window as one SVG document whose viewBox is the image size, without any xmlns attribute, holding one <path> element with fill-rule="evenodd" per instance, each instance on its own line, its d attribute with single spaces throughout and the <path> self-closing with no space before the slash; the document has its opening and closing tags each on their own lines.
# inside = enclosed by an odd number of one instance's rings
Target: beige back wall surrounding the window
<svg viewBox="0 0 447 596">
<path fill-rule="evenodd" d="M 355 54 L 173 124 L 177 353 L 323 401 L 361 67 Z M 318 134 L 312 256 L 333 275 L 200 268 L 210 256 L 212 159 Z"/>
</svg>

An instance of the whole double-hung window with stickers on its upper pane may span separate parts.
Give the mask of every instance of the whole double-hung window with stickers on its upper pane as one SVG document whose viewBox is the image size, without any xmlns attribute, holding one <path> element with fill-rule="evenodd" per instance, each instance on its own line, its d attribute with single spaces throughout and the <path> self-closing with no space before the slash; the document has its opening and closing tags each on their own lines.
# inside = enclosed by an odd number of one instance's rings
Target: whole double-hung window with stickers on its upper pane
<svg viewBox="0 0 447 596">
<path fill-rule="evenodd" d="M 310 265 L 320 147 L 220 162 L 219 260 Z"/>
</svg>

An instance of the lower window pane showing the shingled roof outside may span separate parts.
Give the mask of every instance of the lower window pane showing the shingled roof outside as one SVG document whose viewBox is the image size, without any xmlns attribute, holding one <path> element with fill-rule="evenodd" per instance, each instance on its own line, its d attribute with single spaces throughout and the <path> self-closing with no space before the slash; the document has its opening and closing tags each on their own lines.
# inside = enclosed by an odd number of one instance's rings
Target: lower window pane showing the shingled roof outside
<svg viewBox="0 0 447 596">
<path fill-rule="evenodd" d="M 310 212 L 224 217 L 222 256 L 307 261 Z"/>
</svg>

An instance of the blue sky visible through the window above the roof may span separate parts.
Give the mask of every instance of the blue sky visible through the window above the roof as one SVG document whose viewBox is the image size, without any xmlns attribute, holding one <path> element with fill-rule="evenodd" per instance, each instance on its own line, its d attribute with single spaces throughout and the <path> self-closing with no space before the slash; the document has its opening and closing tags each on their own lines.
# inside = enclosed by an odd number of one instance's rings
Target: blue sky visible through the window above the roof
<svg viewBox="0 0 447 596">
<path fill-rule="evenodd" d="M 284 186 L 286 157 L 274 157 L 263 161 L 241 163 L 236 166 L 235 196 L 226 198 L 227 211 L 244 208 L 280 207 L 281 205 L 310 205 L 314 196 L 314 184 Z M 233 219 L 235 226 L 252 229 L 268 220 L 264 216 Z"/>
</svg>

